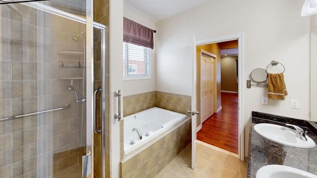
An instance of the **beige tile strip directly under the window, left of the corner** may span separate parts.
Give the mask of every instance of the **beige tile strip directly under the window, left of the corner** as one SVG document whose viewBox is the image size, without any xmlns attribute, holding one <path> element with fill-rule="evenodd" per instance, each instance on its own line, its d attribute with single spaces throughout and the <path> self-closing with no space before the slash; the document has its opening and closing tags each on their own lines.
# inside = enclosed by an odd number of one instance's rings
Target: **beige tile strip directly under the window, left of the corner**
<svg viewBox="0 0 317 178">
<path fill-rule="evenodd" d="M 123 97 L 123 117 L 155 107 L 155 91 Z"/>
</svg>

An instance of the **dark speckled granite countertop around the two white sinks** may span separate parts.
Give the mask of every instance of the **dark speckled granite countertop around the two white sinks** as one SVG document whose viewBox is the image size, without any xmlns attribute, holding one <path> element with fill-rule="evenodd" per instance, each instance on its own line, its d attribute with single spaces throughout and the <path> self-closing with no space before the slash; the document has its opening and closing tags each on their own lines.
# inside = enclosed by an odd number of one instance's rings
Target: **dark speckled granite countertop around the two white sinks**
<svg viewBox="0 0 317 178">
<path fill-rule="evenodd" d="M 253 111 L 249 134 L 248 178 L 255 178 L 261 167 L 271 164 L 290 166 L 317 175 L 317 146 L 296 148 L 271 141 L 253 129 L 258 123 L 300 126 L 317 143 L 317 127 L 314 127 L 314 122 Z"/>
</svg>

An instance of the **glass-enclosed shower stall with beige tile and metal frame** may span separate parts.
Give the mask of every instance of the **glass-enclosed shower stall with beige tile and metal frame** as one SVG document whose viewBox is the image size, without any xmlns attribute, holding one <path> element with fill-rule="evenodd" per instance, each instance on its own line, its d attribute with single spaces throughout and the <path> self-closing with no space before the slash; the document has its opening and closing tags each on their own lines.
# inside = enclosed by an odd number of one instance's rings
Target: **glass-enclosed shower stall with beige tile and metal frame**
<svg viewBox="0 0 317 178">
<path fill-rule="evenodd" d="M 0 0 L 0 178 L 104 178 L 106 24 L 90 0 L 31 1 Z"/>
</svg>

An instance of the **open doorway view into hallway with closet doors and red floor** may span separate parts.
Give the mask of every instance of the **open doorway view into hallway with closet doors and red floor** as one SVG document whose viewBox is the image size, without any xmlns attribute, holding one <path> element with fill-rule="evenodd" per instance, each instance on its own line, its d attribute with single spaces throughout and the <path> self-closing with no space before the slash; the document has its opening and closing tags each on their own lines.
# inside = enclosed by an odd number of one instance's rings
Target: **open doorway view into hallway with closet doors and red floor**
<svg viewBox="0 0 317 178">
<path fill-rule="evenodd" d="M 210 47 L 212 46 L 212 47 Z M 209 73 L 206 67 L 206 55 L 201 55 L 201 124 L 197 133 L 197 139 L 211 144 L 220 149 L 234 153 L 238 157 L 238 84 L 237 84 L 237 63 L 238 41 L 226 41 L 214 44 L 197 46 L 197 49 L 204 48 L 218 55 L 214 55 L 218 62 L 217 68 L 217 112 L 206 111 L 210 103 L 214 102 L 213 97 L 205 97 L 211 91 L 210 86 L 214 84 L 209 80 L 213 73 Z M 236 49 L 236 50 L 235 50 Z M 203 49 L 200 49 L 203 50 Z M 207 72 L 206 72 L 207 71 Z M 220 71 L 220 72 L 219 72 Z M 199 81 L 199 80 L 198 80 Z"/>
</svg>

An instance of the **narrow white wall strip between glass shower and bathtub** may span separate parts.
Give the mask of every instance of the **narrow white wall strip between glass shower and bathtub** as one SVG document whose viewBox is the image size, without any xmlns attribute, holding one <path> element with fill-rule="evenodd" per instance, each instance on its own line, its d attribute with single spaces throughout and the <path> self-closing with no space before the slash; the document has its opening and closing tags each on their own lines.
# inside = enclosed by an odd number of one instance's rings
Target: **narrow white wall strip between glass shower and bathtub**
<svg viewBox="0 0 317 178">
<path fill-rule="evenodd" d="M 114 119 L 118 113 L 118 97 L 114 92 L 122 85 L 123 0 L 109 0 L 109 56 L 110 56 L 110 178 L 120 176 L 120 123 Z M 121 59 L 121 60 L 118 60 Z M 121 97 L 123 103 L 123 97 Z M 121 107 L 123 113 L 123 107 Z"/>
</svg>

